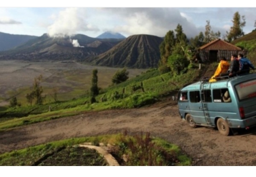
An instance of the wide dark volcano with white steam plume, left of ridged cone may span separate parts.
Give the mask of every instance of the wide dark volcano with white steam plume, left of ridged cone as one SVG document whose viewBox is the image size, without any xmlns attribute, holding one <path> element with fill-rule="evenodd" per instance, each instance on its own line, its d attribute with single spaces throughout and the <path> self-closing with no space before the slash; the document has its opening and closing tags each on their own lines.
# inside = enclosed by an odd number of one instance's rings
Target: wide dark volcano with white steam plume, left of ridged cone
<svg viewBox="0 0 256 177">
<path fill-rule="evenodd" d="M 120 39 L 97 39 L 76 34 L 72 37 L 50 38 L 47 34 L 31 39 L 9 51 L 0 52 L 0 59 L 85 59 L 106 52 Z M 80 46 L 80 47 L 74 47 Z"/>
</svg>

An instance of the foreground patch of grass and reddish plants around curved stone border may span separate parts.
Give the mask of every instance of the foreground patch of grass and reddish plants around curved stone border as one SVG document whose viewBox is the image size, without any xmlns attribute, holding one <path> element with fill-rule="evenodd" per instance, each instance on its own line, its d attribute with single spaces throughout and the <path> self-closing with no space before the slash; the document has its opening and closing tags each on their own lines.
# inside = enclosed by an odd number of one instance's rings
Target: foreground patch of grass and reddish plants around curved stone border
<svg viewBox="0 0 256 177">
<path fill-rule="evenodd" d="M 0 166 L 107 165 L 102 156 L 96 152 L 81 152 L 77 145 L 85 142 L 95 145 L 98 143 L 112 144 L 111 154 L 121 165 L 191 165 L 191 159 L 182 154 L 175 144 L 151 137 L 149 133 L 134 136 L 119 133 L 65 139 L 0 154 Z M 141 148 L 144 150 L 142 151 Z M 127 155 L 127 162 L 122 160 L 124 154 Z"/>
</svg>

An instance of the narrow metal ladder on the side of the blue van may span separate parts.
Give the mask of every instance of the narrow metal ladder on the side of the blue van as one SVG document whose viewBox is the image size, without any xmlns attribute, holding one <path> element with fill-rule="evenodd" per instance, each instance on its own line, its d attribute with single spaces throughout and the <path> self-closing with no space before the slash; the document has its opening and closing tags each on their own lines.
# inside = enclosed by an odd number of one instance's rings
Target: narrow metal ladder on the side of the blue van
<svg viewBox="0 0 256 177">
<path fill-rule="evenodd" d="M 202 80 L 201 84 L 200 84 L 202 108 L 203 108 L 204 118 L 206 119 L 207 125 L 212 126 L 212 122 L 210 120 L 209 109 L 208 109 L 208 105 L 206 102 L 205 85 L 206 85 L 206 81 Z"/>
</svg>

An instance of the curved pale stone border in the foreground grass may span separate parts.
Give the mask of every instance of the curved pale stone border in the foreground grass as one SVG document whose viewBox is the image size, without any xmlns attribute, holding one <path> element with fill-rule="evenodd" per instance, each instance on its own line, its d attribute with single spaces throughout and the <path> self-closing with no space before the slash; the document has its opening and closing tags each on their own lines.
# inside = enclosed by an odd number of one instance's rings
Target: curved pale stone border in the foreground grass
<svg viewBox="0 0 256 177">
<path fill-rule="evenodd" d="M 85 147 L 90 149 L 95 149 L 98 153 L 102 154 L 104 158 L 107 160 L 109 166 L 120 166 L 116 159 L 108 153 L 106 150 L 102 149 L 101 147 L 94 146 L 94 145 L 87 145 L 87 144 L 79 144 L 79 147 Z"/>
</svg>

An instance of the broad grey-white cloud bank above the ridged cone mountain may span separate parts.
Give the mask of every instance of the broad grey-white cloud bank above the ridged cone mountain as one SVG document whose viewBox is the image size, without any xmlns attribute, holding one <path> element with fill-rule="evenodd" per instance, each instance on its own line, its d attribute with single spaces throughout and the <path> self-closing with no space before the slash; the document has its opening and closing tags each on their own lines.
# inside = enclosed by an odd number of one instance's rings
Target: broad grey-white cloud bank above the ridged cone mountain
<svg viewBox="0 0 256 177">
<path fill-rule="evenodd" d="M 164 36 L 169 30 L 176 29 L 178 23 L 188 36 L 199 31 L 196 26 L 183 17 L 177 8 L 101 8 L 107 15 L 115 15 L 120 23 L 108 30 L 133 34 L 150 34 Z"/>
</svg>

